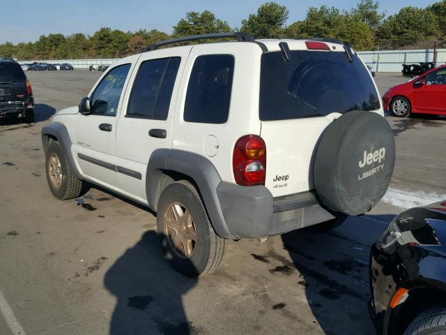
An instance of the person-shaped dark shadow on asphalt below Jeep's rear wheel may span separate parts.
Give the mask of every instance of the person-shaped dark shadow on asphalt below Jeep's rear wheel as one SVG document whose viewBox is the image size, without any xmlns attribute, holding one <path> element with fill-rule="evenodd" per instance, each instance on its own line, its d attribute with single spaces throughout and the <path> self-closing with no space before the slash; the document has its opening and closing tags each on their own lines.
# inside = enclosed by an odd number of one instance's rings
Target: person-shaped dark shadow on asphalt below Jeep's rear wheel
<svg viewBox="0 0 446 335">
<path fill-rule="evenodd" d="M 182 296 L 197 278 L 179 274 L 164 260 L 157 233 L 145 232 L 105 274 L 105 287 L 117 299 L 110 335 L 193 334 Z"/>
</svg>

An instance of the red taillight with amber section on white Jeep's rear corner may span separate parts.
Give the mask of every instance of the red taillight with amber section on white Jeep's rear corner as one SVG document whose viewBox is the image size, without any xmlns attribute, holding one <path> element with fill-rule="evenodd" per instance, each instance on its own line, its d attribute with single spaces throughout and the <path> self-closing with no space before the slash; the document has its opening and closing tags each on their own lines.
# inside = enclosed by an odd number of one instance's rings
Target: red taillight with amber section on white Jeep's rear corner
<svg viewBox="0 0 446 335">
<path fill-rule="evenodd" d="M 238 139 L 234 146 L 232 168 L 238 185 L 265 184 L 266 144 L 262 137 L 245 135 Z"/>
</svg>

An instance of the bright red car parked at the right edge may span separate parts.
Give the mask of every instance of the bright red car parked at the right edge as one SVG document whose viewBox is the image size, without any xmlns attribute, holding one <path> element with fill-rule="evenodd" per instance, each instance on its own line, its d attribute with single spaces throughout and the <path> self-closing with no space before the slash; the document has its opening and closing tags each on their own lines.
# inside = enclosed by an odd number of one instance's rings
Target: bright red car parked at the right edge
<svg viewBox="0 0 446 335">
<path fill-rule="evenodd" d="M 410 113 L 446 115 L 446 65 L 390 88 L 383 96 L 383 108 L 396 117 Z"/>
</svg>

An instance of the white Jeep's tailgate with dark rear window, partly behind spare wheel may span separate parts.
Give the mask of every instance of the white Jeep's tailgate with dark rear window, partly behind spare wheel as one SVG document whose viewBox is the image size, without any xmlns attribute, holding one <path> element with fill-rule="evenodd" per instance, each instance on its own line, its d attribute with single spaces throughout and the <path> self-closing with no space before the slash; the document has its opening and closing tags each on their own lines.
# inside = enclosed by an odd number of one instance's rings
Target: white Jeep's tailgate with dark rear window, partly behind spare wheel
<svg viewBox="0 0 446 335">
<path fill-rule="evenodd" d="M 281 52 L 262 55 L 259 117 L 274 197 L 314 188 L 316 148 L 330 122 L 351 110 L 380 110 L 362 61 L 337 50 L 293 50 L 289 61 Z"/>
</svg>

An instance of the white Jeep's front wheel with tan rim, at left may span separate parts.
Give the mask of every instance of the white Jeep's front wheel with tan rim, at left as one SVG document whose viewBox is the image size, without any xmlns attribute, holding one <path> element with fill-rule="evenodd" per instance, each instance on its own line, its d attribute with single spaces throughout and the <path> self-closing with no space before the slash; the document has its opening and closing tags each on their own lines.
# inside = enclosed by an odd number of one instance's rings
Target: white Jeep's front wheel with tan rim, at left
<svg viewBox="0 0 446 335">
<path fill-rule="evenodd" d="M 72 173 L 71 167 L 63 155 L 61 144 L 57 141 L 51 142 L 48 146 L 45 170 L 49 190 L 54 197 L 67 200 L 81 195 L 84 181 L 77 179 Z"/>
</svg>

